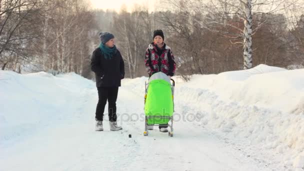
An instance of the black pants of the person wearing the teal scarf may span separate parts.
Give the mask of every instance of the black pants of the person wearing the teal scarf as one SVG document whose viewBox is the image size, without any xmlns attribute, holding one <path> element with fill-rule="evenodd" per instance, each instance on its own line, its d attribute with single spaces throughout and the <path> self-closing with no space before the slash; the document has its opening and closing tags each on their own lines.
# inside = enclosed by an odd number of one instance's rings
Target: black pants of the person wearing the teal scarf
<svg viewBox="0 0 304 171">
<path fill-rule="evenodd" d="M 103 112 L 108 102 L 108 119 L 109 121 L 116 121 L 116 99 L 118 94 L 118 86 L 116 87 L 97 87 L 98 90 L 98 103 L 96 106 L 95 119 L 103 120 Z"/>
</svg>

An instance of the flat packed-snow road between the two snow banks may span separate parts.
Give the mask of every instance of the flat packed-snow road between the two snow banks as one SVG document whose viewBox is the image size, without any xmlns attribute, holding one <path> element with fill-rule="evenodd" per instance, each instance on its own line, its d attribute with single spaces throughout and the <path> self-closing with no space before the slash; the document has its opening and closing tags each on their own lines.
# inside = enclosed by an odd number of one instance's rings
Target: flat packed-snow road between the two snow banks
<svg viewBox="0 0 304 171">
<path fill-rule="evenodd" d="M 175 122 L 173 137 L 157 127 L 143 136 L 142 94 L 128 86 L 119 89 L 117 101 L 123 130 L 109 131 L 104 121 L 105 130 L 95 132 L 96 94 L 93 83 L 69 94 L 63 101 L 76 107 L 48 108 L 57 111 L 54 118 L 42 117 L 45 124 L 29 125 L 30 131 L 22 135 L 19 129 L 21 135 L 2 141 L 0 170 L 264 170 L 196 122 Z M 184 106 L 175 109 L 181 113 Z"/>
</svg>

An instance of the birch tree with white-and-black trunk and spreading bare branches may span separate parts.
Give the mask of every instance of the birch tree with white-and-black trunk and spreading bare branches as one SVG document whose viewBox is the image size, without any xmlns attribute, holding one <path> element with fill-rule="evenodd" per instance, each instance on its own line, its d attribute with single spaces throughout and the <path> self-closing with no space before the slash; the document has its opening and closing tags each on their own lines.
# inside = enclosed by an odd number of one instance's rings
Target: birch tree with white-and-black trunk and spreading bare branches
<svg viewBox="0 0 304 171">
<path fill-rule="evenodd" d="M 170 4 L 185 15 L 200 23 L 200 27 L 217 31 L 231 39 L 234 44 L 243 45 L 243 68 L 252 67 L 252 35 L 268 20 L 260 21 L 252 28 L 252 17 L 257 14 L 271 14 L 286 8 L 286 0 L 169 0 Z M 198 18 L 193 13 L 201 13 Z M 237 17 L 235 17 L 237 16 Z M 207 19 L 206 19 L 207 18 Z M 241 23 L 242 25 L 238 24 Z M 220 29 L 218 25 L 220 25 Z M 242 39 L 242 41 L 239 41 Z"/>
</svg>

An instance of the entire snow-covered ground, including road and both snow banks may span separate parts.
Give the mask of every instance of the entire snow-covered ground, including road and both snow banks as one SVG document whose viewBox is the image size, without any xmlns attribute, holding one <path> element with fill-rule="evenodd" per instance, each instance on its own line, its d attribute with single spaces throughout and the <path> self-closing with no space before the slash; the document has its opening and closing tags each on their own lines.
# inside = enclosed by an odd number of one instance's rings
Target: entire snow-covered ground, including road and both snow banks
<svg viewBox="0 0 304 171">
<path fill-rule="evenodd" d="M 0 170 L 304 170 L 304 69 L 173 78 L 174 136 L 143 136 L 147 77 L 122 81 L 123 129 L 96 132 L 93 81 L 1 70 Z"/>
</svg>

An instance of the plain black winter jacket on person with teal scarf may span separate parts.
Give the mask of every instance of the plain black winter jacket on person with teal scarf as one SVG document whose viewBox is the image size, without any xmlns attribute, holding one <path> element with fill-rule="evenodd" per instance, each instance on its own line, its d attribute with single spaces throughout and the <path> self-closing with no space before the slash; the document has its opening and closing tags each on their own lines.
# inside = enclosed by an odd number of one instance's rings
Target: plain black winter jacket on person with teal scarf
<svg viewBox="0 0 304 171">
<path fill-rule="evenodd" d="M 120 86 L 124 78 L 124 62 L 118 50 L 111 59 L 105 59 L 101 49 L 96 48 L 91 57 L 91 69 L 95 72 L 97 87 Z"/>
</svg>

